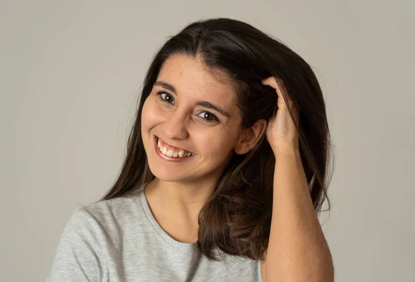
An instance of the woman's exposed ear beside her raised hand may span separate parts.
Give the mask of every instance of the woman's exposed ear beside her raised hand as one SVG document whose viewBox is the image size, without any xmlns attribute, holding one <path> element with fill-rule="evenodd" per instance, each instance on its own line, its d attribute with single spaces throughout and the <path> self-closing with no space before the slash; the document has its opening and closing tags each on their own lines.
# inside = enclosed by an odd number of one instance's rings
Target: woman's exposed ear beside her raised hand
<svg viewBox="0 0 415 282">
<path fill-rule="evenodd" d="M 266 124 L 266 120 L 257 120 L 249 129 L 242 129 L 238 142 L 234 147 L 235 153 L 243 155 L 255 147 L 255 144 L 266 131 Z"/>
</svg>

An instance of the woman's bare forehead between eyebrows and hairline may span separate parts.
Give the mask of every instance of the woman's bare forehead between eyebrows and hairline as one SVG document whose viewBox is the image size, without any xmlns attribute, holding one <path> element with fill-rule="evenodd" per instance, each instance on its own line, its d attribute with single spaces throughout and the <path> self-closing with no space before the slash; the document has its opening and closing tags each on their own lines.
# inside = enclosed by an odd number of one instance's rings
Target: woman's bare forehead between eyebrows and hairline
<svg viewBox="0 0 415 282">
<path fill-rule="evenodd" d="M 219 72 L 212 75 L 198 58 L 185 55 L 169 57 L 160 70 L 158 80 L 172 84 L 179 97 L 236 106 L 234 86 L 228 77 Z"/>
</svg>

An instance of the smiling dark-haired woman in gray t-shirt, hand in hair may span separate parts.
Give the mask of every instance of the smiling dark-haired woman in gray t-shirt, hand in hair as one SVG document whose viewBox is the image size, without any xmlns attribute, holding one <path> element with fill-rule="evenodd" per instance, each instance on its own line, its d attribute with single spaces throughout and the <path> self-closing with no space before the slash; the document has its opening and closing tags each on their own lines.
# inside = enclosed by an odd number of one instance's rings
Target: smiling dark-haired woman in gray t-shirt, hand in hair
<svg viewBox="0 0 415 282">
<path fill-rule="evenodd" d="M 154 57 L 120 176 L 75 211 L 49 281 L 333 281 L 329 149 L 301 57 L 241 21 L 192 23 Z"/>
</svg>

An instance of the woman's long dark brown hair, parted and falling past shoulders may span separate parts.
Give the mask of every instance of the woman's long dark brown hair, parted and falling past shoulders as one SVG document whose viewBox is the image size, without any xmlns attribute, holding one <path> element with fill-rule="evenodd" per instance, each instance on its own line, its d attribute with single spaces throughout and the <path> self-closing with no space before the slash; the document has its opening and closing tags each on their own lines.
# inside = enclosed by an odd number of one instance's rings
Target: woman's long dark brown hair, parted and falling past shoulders
<svg viewBox="0 0 415 282">
<path fill-rule="evenodd" d="M 205 66 L 225 73 L 235 85 L 243 127 L 269 120 L 277 111 L 275 89 L 261 79 L 278 77 L 299 110 L 299 150 L 316 212 L 331 180 L 331 144 L 322 90 L 311 67 L 293 50 L 248 23 L 234 19 L 206 19 L 169 37 L 156 53 L 140 95 L 136 121 L 129 135 L 127 156 L 115 184 L 102 200 L 130 196 L 154 179 L 141 137 L 142 105 L 165 60 L 176 54 L 199 56 Z M 217 75 L 217 73 L 216 73 Z M 291 110 L 290 110 L 291 112 Z M 291 112 L 292 114 L 292 112 Z M 200 250 L 217 260 L 212 250 L 264 259 L 273 205 L 275 158 L 265 138 L 245 155 L 234 153 L 199 213 Z"/>
</svg>

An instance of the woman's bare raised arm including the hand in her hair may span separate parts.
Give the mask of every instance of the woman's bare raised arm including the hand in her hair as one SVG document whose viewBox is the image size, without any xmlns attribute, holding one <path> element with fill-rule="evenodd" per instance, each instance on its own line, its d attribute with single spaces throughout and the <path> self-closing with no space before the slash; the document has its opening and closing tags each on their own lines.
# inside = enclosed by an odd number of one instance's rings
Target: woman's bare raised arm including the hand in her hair
<svg viewBox="0 0 415 282">
<path fill-rule="evenodd" d="M 275 171 L 273 213 L 263 276 L 266 282 L 333 281 L 331 253 L 313 207 L 299 153 L 295 126 L 299 113 L 291 98 L 286 97 L 293 111 L 291 118 L 282 96 L 284 84 L 281 80 L 268 77 L 262 83 L 275 88 L 279 96 L 277 115 L 268 123 L 266 133 L 275 154 Z"/>
</svg>

